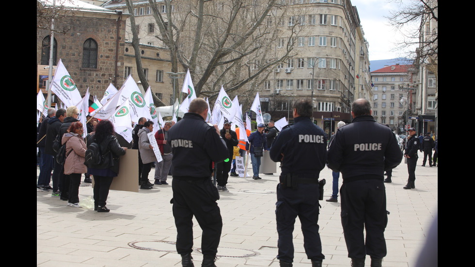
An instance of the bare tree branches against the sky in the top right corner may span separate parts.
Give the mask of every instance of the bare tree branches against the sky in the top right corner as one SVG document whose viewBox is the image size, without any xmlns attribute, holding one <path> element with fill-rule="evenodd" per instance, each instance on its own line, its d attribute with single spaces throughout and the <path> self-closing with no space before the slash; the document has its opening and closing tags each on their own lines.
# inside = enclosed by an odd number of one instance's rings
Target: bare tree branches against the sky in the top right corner
<svg viewBox="0 0 475 267">
<path fill-rule="evenodd" d="M 438 61 L 438 0 L 394 0 L 400 5 L 387 18 L 392 26 L 400 30 L 404 40 L 398 48 L 406 50 L 406 57 L 416 64 L 433 64 Z M 433 25 L 429 27 L 429 24 Z M 412 27 L 411 27 L 412 25 Z M 434 26 L 435 25 L 435 26 Z M 412 51 L 408 48 L 417 47 Z"/>
</svg>

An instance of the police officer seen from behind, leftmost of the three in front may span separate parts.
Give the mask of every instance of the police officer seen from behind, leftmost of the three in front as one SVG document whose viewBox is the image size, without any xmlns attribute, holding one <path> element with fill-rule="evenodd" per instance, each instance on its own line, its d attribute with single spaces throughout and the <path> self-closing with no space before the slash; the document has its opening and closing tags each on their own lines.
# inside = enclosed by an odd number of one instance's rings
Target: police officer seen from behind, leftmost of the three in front
<svg viewBox="0 0 475 267">
<path fill-rule="evenodd" d="M 212 162 L 229 157 L 218 126 L 207 124 L 208 105 L 203 98 L 190 103 L 189 112 L 168 132 L 172 146 L 173 216 L 177 231 L 176 251 L 183 267 L 192 267 L 193 216 L 203 230 L 202 267 L 215 267 L 214 260 L 220 243 L 222 218 L 216 201 L 218 189 L 211 180 Z"/>
</svg>

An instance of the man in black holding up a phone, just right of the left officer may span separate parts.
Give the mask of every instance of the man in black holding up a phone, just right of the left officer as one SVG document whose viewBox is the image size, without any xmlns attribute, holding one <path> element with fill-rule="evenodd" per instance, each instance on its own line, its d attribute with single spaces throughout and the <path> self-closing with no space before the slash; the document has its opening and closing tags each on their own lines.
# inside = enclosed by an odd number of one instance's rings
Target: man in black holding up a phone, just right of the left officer
<svg viewBox="0 0 475 267">
<path fill-rule="evenodd" d="M 238 135 L 235 131 L 231 130 L 231 124 L 227 119 L 224 119 L 224 126 L 220 131 L 222 140 L 226 142 L 228 148 L 228 160 L 217 164 L 216 166 L 216 182 L 218 183 L 218 190 L 229 192 L 226 188 L 228 182 L 229 171 L 231 171 L 231 164 L 233 161 L 234 147 L 238 145 Z"/>
</svg>

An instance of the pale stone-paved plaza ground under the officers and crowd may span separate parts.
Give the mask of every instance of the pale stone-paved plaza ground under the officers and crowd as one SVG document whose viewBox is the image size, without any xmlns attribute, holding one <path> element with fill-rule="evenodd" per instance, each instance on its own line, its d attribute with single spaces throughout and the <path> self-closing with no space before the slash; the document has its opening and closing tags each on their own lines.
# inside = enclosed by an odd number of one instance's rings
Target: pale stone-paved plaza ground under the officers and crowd
<svg viewBox="0 0 475 267">
<path fill-rule="evenodd" d="M 422 156 L 419 153 L 419 156 Z M 425 243 L 438 207 L 438 167 L 416 168 L 415 189 L 405 190 L 408 173 L 404 161 L 393 170 L 393 183 L 386 185 L 388 254 L 384 267 L 412 267 Z M 428 165 L 427 165 L 428 166 Z M 277 167 L 278 171 L 280 169 Z M 251 164 L 248 171 L 252 173 Z M 39 169 L 36 168 L 38 176 Z M 154 171 L 150 172 L 153 181 Z M 275 202 L 278 173 L 252 177 L 229 177 L 229 192 L 220 192 L 223 228 L 218 248 L 218 267 L 278 267 Z M 37 177 L 38 178 L 38 177 Z M 320 201 L 320 236 L 323 266 L 349 267 L 338 203 L 326 202 L 332 194 L 332 171 L 325 168 L 320 179 L 327 184 Z M 138 180 L 138 177 L 133 177 Z M 81 180 L 84 180 L 84 176 Z M 138 193 L 111 190 L 109 213 L 67 206 L 67 201 L 36 192 L 36 265 L 39 267 L 181 267 L 175 251 L 176 229 L 170 185 L 155 185 Z M 340 177 L 340 186 L 341 186 Z M 79 200 L 92 198 L 91 184 L 81 184 Z M 201 266 L 201 228 L 193 219 L 193 262 Z M 303 249 L 300 221 L 294 230 L 294 267 L 311 267 Z M 437 257 L 437 255 L 434 255 Z M 369 266 L 369 256 L 366 266 Z"/>
</svg>

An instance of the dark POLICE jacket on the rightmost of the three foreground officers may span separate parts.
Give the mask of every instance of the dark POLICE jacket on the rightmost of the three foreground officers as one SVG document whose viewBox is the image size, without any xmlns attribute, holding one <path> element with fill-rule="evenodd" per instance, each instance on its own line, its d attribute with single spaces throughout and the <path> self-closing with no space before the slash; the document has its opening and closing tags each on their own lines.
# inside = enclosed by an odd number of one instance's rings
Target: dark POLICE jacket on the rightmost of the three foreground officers
<svg viewBox="0 0 475 267">
<path fill-rule="evenodd" d="M 391 129 L 364 115 L 338 128 L 328 149 L 327 165 L 341 172 L 345 183 L 383 179 L 384 171 L 395 168 L 401 159 L 402 151 Z"/>
</svg>

